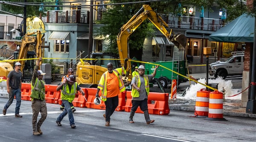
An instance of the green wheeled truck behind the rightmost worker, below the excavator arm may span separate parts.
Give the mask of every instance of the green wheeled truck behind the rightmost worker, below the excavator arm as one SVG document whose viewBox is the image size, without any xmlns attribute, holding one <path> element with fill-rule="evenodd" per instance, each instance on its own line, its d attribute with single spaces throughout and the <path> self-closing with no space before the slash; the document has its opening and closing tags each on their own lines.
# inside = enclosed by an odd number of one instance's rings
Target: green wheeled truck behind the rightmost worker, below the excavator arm
<svg viewBox="0 0 256 142">
<path fill-rule="evenodd" d="M 174 70 L 175 72 L 178 72 L 178 73 L 186 76 L 187 69 L 186 69 L 185 60 L 157 61 L 157 62 L 150 62 L 150 63 L 152 63 L 152 64 L 145 64 L 145 74 L 152 74 L 154 72 L 154 67 L 155 67 L 153 64 L 159 64 L 160 67 L 158 67 L 157 74 L 154 78 L 158 78 L 160 80 L 160 82 L 163 84 L 163 87 L 167 87 L 168 84 L 172 84 L 172 79 L 177 80 L 177 85 L 179 85 L 181 82 L 187 81 L 186 78 L 170 71 L 170 70 Z M 163 66 L 163 67 L 161 67 L 161 66 Z M 170 70 L 167 70 L 164 67 L 166 67 Z"/>
</svg>

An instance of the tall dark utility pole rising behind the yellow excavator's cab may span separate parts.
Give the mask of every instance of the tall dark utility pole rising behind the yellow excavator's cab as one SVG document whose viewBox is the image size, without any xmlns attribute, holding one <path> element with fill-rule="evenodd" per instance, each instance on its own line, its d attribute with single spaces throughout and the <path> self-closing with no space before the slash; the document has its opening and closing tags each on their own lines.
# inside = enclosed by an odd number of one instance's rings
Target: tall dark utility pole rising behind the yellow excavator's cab
<svg viewBox="0 0 256 142">
<path fill-rule="evenodd" d="M 93 41 L 93 0 L 90 0 L 88 55 L 90 54 L 90 52 L 92 52 L 92 41 Z"/>
</svg>

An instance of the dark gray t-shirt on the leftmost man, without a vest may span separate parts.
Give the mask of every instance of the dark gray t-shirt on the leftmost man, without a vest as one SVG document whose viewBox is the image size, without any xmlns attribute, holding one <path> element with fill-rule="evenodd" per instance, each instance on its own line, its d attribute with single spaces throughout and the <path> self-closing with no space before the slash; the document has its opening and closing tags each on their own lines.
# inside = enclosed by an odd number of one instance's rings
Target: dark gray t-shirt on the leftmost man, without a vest
<svg viewBox="0 0 256 142">
<path fill-rule="evenodd" d="M 11 87 L 11 89 L 19 89 L 20 88 L 20 81 L 22 78 L 22 73 L 16 72 L 15 70 L 12 70 L 11 72 L 9 72 L 8 78 L 10 78 L 10 82 L 9 85 Z"/>
</svg>

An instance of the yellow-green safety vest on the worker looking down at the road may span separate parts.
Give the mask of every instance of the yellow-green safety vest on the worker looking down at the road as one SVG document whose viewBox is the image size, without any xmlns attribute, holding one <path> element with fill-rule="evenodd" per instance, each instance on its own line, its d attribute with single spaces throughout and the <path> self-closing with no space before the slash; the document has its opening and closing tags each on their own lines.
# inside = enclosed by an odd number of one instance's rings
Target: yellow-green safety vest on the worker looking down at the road
<svg viewBox="0 0 256 142">
<path fill-rule="evenodd" d="M 68 84 L 65 83 L 61 90 L 61 100 L 67 100 L 68 102 L 72 102 L 76 96 L 76 87 L 77 82 L 75 82 L 72 85 L 71 90 L 69 90 Z"/>
</svg>

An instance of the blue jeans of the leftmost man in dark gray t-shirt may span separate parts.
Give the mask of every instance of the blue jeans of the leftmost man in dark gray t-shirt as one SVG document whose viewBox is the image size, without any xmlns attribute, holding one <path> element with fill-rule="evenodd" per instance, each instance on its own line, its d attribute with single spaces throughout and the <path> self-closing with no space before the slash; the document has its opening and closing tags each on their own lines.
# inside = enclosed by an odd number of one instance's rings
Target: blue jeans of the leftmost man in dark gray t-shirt
<svg viewBox="0 0 256 142">
<path fill-rule="evenodd" d="M 18 89 L 10 89 L 9 100 L 7 101 L 4 109 L 8 109 L 13 102 L 14 96 L 16 97 L 16 107 L 15 107 L 15 115 L 20 113 L 20 104 L 21 104 L 21 91 Z"/>
</svg>

